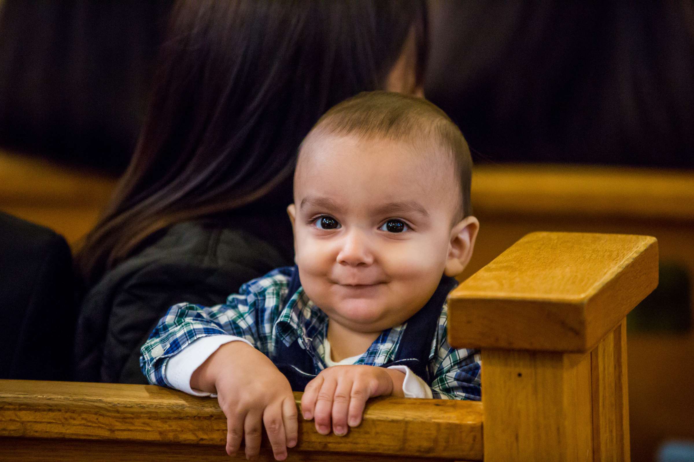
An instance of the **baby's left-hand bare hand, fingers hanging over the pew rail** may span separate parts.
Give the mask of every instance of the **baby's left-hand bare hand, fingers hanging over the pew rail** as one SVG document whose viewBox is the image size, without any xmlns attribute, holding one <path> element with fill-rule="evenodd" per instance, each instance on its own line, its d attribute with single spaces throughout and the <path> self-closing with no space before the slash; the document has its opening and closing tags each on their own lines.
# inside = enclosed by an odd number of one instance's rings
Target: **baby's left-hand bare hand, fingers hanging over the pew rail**
<svg viewBox="0 0 694 462">
<path fill-rule="evenodd" d="M 194 372 L 191 385 L 217 391 L 219 407 L 226 415 L 226 452 L 230 456 L 245 439 L 246 459 L 255 458 L 263 427 L 278 461 L 287 458 L 287 447 L 296 445 L 298 421 L 289 381 L 252 346 L 242 341 L 220 346 Z"/>
</svg>

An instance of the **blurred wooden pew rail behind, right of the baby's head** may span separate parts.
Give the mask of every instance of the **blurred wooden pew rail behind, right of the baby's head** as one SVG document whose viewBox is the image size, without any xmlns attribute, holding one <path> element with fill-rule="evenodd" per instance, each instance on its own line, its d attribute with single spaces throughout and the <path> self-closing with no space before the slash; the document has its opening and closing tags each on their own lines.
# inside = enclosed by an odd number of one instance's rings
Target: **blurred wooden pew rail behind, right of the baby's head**
<svg viewBox="0 0 694 462">
<path fill-rule="evenodd" d="M 694 171 L 505 164 L 475 166 L 475 214 L 694 221 Z M 484 227 L 482 228 L 484 229 Z"/>
</svg>

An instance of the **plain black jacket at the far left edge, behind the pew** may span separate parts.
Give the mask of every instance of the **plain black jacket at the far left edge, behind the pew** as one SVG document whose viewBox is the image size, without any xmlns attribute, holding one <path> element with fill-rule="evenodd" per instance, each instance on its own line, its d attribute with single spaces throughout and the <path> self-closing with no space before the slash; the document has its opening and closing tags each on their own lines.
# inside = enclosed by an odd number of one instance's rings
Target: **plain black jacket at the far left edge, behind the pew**
<svg viewBox="0 0 694 462">
<path fill-rule="evenodd" d="M 76 315 L 65 239 L 0 212 L 0 379 L 68 380 Z"/>
</svg>

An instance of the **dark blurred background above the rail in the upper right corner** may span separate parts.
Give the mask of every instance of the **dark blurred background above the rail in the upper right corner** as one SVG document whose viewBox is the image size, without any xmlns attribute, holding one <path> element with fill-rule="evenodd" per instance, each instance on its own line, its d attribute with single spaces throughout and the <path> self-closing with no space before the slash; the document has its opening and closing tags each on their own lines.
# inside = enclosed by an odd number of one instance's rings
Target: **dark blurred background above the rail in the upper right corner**
<svg viewBox="0 0 694 462">
<path fill-rule="evenodd" d="M 437 1 L 427 96 L 477 161 L 692 167 L 691 1 Z"/>
</svg>

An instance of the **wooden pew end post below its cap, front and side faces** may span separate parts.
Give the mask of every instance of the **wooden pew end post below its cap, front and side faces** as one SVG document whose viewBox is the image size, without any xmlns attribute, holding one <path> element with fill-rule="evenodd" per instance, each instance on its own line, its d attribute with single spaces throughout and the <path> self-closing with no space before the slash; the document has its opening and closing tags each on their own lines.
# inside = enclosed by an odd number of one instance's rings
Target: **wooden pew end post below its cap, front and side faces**
<svg viewBox="0 0 694 462">
<path fill-rule="evenodd" d="M 630 460 L 626 323 L 590 353 L 482 350 L 485 461 Z"/>
</svg>

